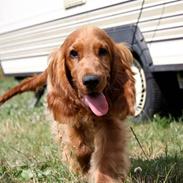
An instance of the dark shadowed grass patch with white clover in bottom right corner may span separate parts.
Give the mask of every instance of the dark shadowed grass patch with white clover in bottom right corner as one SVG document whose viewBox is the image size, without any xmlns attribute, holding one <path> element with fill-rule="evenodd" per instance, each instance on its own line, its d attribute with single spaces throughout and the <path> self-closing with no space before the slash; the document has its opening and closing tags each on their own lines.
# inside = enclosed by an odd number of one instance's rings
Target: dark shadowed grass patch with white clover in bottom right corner
<svg viewBox="0 0 183 183">
<path fill-rule="evenodd" d="M 133 183 L 181 183 L 183 158 L 165 156 L 149 160 L 132 159 L 130 177 Z"/>
</svg>

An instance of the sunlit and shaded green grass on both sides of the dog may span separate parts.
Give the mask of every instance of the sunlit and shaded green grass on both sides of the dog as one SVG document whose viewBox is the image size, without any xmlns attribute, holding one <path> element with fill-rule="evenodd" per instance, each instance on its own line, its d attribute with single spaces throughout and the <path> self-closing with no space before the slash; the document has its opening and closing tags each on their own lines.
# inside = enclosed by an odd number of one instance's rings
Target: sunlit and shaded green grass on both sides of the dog
<svg viewBox="0 0 183 183">
<path fill-rule="evenodd" d="M 0 95 L 15 84 L 0 78 Z M 33 108 L 32 99 L 32 93 L 25 93 L 0 108 L 0 183 L 82 183 L 60 161 L 45 107 Z M 126 182 L 183 182 L 182 119 L 156 116 L 129 126 L 144 153 L 130 131 L 131 170 Z"/>
</svg>

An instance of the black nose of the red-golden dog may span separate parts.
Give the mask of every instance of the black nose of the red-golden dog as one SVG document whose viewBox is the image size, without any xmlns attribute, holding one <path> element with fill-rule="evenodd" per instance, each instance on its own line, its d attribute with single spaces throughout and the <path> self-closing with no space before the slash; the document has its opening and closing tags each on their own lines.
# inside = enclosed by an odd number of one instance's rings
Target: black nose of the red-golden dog
<svg viewBox="0 0 183 183">
<path fill-rule="evenodd" d="M 97 75 L 86 75 L 83 77 L 83 84 L 89 89 L 94 89 L 99 82 L 100 77 Z"/>
</svg>

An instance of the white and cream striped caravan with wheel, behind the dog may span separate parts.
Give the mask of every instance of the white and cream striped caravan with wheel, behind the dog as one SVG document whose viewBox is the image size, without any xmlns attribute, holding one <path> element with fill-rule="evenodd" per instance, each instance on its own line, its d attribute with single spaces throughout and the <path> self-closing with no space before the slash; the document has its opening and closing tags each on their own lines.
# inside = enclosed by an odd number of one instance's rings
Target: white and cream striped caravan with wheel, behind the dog
<svg viewBox="0 0 183 183">
<path fill-rule="evenodd" d="M 4 74 L 25 77 L 42 72 L 49 53 L 82 25 L 103 28 L 115 41 L 131 47 L 137 121 L 159 112 L 162 101 L 168 101 L 172 108 L 174 103 L 181 106 L 180 0 L 1 0 L 0 61 Z"/>
</svg>

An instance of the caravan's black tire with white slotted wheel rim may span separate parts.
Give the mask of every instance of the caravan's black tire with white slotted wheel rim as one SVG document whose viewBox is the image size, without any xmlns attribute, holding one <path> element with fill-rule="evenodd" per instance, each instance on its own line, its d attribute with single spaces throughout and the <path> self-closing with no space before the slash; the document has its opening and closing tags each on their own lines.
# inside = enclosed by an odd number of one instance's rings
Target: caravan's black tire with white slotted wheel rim
<svg viewBox="0 0 183 183">
<path fill-rule="evenodd" d="M 147 66 L 135 59 L 132 69 L 136 79 L 136 106 L 133 121 L 147 121 L 161 107 L 161 91 Z"/>
</svg>

